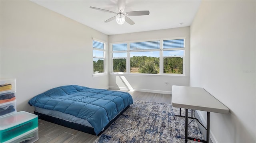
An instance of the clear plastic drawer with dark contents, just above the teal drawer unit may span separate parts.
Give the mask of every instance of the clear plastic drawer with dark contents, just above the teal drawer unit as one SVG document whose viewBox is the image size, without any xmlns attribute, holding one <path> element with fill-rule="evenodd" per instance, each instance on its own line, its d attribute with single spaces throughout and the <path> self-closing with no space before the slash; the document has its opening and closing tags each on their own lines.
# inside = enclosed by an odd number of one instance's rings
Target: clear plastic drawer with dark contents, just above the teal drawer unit
<svg viewBox="0 0 256 143">
<path fill-rule="evenodd" d="M 8 116 L 9 114 L 16 113 L 16 99 L 14 101 L 6 102 L 0 104 L 0 117 Z M 2 119 L 1 119 L 1 129 L 2 129 Z"/>
</svg>

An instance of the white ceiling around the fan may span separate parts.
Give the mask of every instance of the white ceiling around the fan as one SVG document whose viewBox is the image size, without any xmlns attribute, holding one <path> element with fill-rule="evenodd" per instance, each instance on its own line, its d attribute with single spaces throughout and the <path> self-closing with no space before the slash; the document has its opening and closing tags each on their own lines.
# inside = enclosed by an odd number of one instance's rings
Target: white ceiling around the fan
<svg viewBox="0 0 256 143">
<path fill-rule="evenodd" d="M 134 25 L 126 22 L 118 25 L 115 20 L 104 23 L 116 14 L 89 8 L 92 6 L 118 13 L 117 0 L 31 1 L 107 35 L 190 26 L 201 3 L 201 0 L 126 0 L 124 13 L 149 10 L 150 14 L 128 16 L 135 22 Z"/>
</svg>

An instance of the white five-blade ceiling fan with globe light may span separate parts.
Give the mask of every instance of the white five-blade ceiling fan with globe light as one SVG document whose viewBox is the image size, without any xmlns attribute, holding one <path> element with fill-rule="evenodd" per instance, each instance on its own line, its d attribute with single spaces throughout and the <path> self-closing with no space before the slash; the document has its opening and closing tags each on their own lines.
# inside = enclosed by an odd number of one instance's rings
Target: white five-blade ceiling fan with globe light
<svg viewBox="0 0 256 143">
<path fill-rule="evenodd" d="M 103 11 L 103 12 L 109 12 L 109 13 L 117 14 L 116 16 L 113 16 L 112 18 L 106 20 L 105 22 L 110 22 L 110 21 L 116 19 L 116 22 L 120 25 L 124 24 L 125 21 L 130 25 L 135 24 L 127 16 L 145 16 L 145 15 L 149 15 L 148 10 L 132 11 L 132 12 L 124 13 L 125 0 L 118 0 L 117 1 L 117 6 L 118 6 L 119 13 L 112 12 L 110 10 L 104 10 L 104 9 L 101 9 L 101 8 L 95 8 L 95 7 L 92 7 L 92 6 L 90 6 L 90 8 L 95 9 L 95 10 L 100 10 L 100 11 Z"/>
</svg>

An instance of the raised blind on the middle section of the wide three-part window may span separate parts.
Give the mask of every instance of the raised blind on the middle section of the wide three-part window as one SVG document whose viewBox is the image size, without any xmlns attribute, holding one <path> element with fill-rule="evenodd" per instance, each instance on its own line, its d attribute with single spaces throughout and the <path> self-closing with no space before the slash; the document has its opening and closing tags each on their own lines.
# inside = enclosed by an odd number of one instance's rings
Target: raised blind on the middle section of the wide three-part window
<svg viewBox="0 0 256 143">
<path fill-rule="evenodd" d="M 159 49 L 159 48 L 160 48 L 160 41 L 130 43 L 130 50 Z"/>
</svg>

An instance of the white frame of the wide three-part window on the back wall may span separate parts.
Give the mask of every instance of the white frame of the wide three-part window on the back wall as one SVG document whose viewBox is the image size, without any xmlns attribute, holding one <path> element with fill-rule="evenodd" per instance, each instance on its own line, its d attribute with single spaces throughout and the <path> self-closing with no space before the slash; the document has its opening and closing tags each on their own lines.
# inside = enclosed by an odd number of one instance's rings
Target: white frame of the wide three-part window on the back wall
<svg viewBox="0 0 256 143">
<path fill-rule="evenodd" d="M 163 49 L 163 41 L 164 40 L 173 40 L 173 39 L 184 39 L 184 48 L 166 48 Z M 160 49 L 140 49 L 140 50 L 130 50 L 130 43 L 134 42 L 146 42 L 146 41 L 160 41 Z M 113 51 L 112 46 L 113 44 L 120 44 L 120 43 L 127 43 L 127 50 L 126 51 Z M 150 39 L 150 40 L 140 40 L 140 41 L 124 41 L 124 42 L 115 42 L 110 43 L 111 46 L 111 74 L 128 74 L 128 75 L 147 75 L 147 76 L 185 76 L 185 60 L 186 60 L 186 37 L 172 37 L 172 38 L 164 38 L 164 39 Z M 183 56 L 163 56 L 163 51 L 172 51 L 172 50 L 184 50 Z M 159 74 L 145 74 L 145 73 L 130 73 L 130 52 L 144 52 L 144 51 L 159 51 Z M 125 53 L 127 52 L 126 57 L 126 72 L 113 72 L 113 59 L 124 59 L 124 58 L 113 58 L 112 53 Z M 182 57 L 183 58 L 183 71 L 182 74 L 175 74 L 175 73 L 164 73 L 164 58 L 168 57 Z"/>
</svg>

